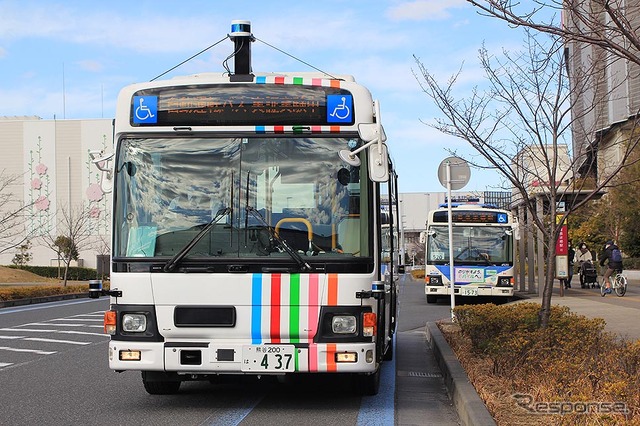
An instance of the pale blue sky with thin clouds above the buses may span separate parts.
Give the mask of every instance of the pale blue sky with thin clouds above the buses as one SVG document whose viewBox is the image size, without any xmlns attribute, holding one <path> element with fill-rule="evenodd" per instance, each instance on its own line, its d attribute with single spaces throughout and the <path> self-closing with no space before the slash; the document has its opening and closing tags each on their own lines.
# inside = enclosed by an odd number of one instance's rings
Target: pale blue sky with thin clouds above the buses
<svg viewBox="0 0 640 426">
<path fill-rule="evenodd" d="M 113 118 L 122 87 L 222 40 L 233 20 L 250 21 L 260 40 L 251 47 L 254 72 L 311 65 L 353 75 L 371 91 L 401 192 L 444 191 L 437 172 L 448 150 L 473 154 L 428 125 L 442 113 L 420 87 L 416 58 L 443 83 L 462 66 L 470 91 L 484 80 L 483 43 L 496 54 L 523 45 L 517 30 L 465 0 L 0 0 L 0 116 Z M 161 78 L 223 72 L 232 49 L 224 40 Z M 499 185 L 496 173 L 472 169 L 463 190 Z"/>
</svg>

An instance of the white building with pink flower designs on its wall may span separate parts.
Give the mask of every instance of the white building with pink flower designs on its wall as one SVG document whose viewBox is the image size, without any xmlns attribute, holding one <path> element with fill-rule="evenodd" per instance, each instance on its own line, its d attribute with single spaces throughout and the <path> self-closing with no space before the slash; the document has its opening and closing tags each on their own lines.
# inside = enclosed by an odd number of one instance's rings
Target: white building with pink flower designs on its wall
<svg viewBox="0 0 640 426">
<path fill-rule="evenodd" d="M 20 231 L 29 235 L 30 264 L 57 265 L 56 253 L 43 238 L 60 235 L 61 209 L 82 209 L 90 215 L 91 240 L 80 247 L 79 266 L 95 268 L 97 256 L 108 254 L 111 200 L 100 189 L 100 174 L 89 152 L 110 152 L 112 142 L 110 119 L 0 117 L 0 171 L 5 177 L 17 176 L 20 183 L 4 194 L 12 195 L 14 205 L 29 206 Z M 1 253 L 0 264 L 11 264 L 15 253 Z"/>
</svg>

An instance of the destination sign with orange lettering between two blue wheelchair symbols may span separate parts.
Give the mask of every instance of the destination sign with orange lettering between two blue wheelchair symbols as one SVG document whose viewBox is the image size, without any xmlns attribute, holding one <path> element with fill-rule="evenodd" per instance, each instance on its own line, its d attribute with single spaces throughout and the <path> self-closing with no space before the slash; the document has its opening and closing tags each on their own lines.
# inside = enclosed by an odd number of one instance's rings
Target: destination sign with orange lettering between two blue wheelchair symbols
<svg viewBox="0 0 640 426">
<path fill-rule="evenodd" d="M 217 84 L 140 90 L 132 126 L 352 125 L 345 89 L 281 84 Z"/>
</svg>

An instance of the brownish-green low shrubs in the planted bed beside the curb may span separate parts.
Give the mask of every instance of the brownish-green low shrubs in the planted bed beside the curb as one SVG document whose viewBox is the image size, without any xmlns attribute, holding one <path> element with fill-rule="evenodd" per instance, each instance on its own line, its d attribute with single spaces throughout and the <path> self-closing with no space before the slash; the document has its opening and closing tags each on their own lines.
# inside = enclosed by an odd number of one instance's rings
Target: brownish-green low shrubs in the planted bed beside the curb
<svg viewBox="0 0 640 426">
<path fill-rule="evenodd" d="M 640 424 L 640 340 L 620 338 L 604 330 L 603 319 L 558 305 L 551 308 L 548 326 L 541 328 L 541 308 L 539 303 L 460 305 L 454 313 L 471 343 L 471 359 L 489 361 L 489 381 L 500 380 L 501 395 L 621 403 L 629 416 L 611 413 L 604 421 L 598 413 L 573 413 L 560 423 Z M 636 423 L 626 423 L 631 419 Z"/>
</svg>

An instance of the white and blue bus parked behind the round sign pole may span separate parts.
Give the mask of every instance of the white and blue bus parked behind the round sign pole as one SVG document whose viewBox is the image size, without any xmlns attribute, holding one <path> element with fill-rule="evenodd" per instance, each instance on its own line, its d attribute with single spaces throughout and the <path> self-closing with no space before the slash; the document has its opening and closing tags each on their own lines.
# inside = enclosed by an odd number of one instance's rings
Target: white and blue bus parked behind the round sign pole
<svg viewBox="0 0 640 426">
<path fill-rule="evenodd" d="M 510 298 L 514 289 L 517 219 L 482 204 L 452 204 L 454 294 Z M 451 297 L 448 208 L 429 212 L 423 234 L 427 303 Z"/>
</svg>

